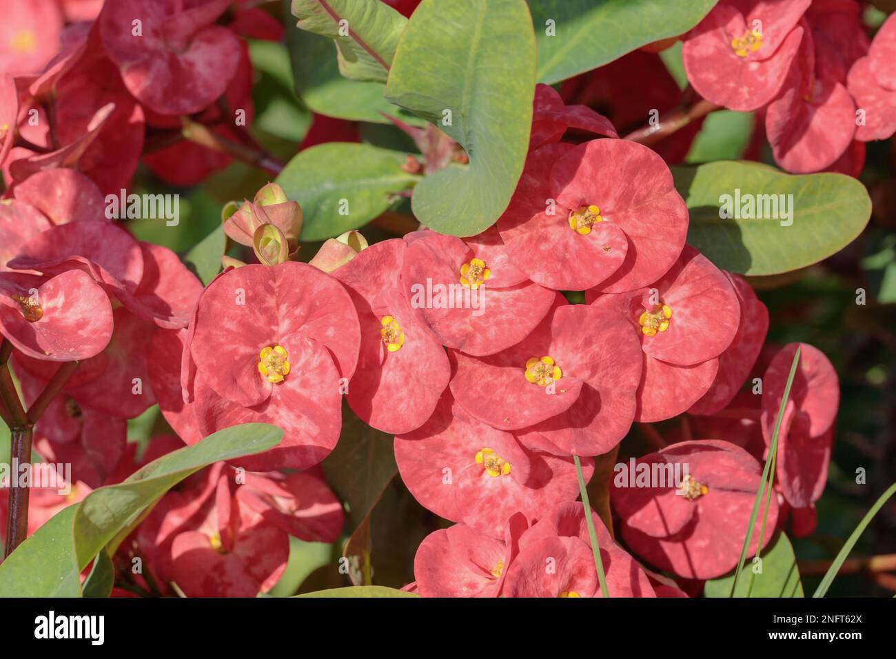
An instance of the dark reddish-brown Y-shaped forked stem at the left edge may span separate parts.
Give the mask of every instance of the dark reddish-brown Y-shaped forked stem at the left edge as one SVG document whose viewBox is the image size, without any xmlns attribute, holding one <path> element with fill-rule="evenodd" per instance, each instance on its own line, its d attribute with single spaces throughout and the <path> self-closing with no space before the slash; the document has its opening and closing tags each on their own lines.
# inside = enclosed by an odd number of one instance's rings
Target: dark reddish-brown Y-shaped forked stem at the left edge
<svg viewBox="0 0 896 659">
<path fill-rule="evenodd" d="M 3 402 L 3 420 L 9 427 L 12 438 L 9 459 L 11 466 L 30 464 L 34 424 L 47 409 L 47 405 L 65 386 L 74 369 L 78 368 L 77 361 L 63 364 L 56 371 L 53 379 L 47 383 L 35 403 L 31 405 L 30 410 L 26 412 L 9 370 L 9 358 L 12 352 L 13 344 L 3 339 L 0 343 L 0 400 Z M 26 480 L 20 487 L 17 477 L 18 471 L 13 469 L 10 476 L 9 507 L 6 513 L 4 558 L 13 553 L 13 550 L 22 544 L 28 535 L 30 482 Z"/>
</svg>

